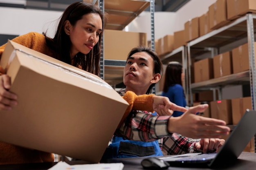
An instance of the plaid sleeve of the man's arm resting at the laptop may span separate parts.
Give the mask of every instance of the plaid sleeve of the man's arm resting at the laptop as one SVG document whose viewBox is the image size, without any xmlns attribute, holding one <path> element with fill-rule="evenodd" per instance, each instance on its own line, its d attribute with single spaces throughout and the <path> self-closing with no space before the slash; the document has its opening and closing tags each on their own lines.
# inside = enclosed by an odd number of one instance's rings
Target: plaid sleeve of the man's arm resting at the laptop
<svg viewBox="0 0 256 170">
<path fill-rule="evenodd" d="M 164 138 L 162 152 L 164 155 L 200 152 L 195 148 L 195 143 L 199 140 L 200 139 L 191 139 L 180 134 L 173 133 L 171 137 Z"/>
</svg>

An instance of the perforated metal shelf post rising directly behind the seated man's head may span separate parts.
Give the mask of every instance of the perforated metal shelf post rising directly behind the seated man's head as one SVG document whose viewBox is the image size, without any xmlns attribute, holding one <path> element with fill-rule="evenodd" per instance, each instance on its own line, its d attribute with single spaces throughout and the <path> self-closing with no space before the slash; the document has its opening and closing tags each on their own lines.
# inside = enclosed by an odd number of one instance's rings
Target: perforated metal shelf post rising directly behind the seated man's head
<svg viewBox="0 0 256 170">
<path fill-rule="evenodd" d="M 150 28 L 151 28 L 151 49 L 155 51 L 155 0 L 150 0 Z M 155 86 L 152 88 L 152 93 L 155 94 Z"/>
</svg>

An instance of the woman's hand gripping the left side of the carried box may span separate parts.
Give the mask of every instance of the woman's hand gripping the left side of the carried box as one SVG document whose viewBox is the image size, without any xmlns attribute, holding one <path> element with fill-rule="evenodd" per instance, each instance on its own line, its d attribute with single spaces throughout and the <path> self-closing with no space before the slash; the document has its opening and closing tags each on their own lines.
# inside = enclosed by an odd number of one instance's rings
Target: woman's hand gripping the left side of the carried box
<svg viewBox="0 0 256 170">
<path fill-rule="evenodd" d="M 0 75 L 0 110 L 11 110 L 18 104 L 17 95 L 9 92 L 11 78 L 4 74 Z"/>
</svg>

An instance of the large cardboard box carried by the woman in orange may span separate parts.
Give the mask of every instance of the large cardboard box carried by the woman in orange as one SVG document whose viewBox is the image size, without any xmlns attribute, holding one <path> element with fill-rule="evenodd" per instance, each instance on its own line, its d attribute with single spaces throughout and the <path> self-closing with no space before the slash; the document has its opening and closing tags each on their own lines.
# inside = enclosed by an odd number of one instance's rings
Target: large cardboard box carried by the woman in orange
<svg viewBox="0 0 256 170">
<path fill-rule="evenodd" d="M 99 162 L 128 106 L 110 85 L 12 41 L 0 65 L 18 95 L 16 107 L 0 111 L 0 141 Z"/>
</svg>

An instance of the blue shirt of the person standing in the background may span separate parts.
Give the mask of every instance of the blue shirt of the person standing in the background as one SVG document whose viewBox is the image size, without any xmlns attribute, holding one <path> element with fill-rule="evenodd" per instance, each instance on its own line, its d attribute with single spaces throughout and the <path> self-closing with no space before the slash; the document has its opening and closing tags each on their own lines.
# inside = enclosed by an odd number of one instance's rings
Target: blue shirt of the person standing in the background
<svg viewBox="0 0 256 170">
<path fill-rule="evenodd" d="M 169 100 L 171 102 L 173 102 L 174 104 L 177 104 L 178 106 L 186 106 L 186 99 L 184 96 L 184 90 L 183 87 L 180 84 L 175 84 L 173 86 L 170 86 L 168 88 L 167 93 L 162 92 L 162 96 L 166 96 L 169 98 Z M 177 117 L 182 115 L 183 112 L 179 112 L 179 111 L 174 111 L 173 112 L 173 117 Z"/>
</svg>

